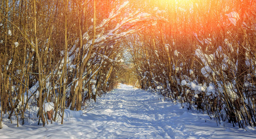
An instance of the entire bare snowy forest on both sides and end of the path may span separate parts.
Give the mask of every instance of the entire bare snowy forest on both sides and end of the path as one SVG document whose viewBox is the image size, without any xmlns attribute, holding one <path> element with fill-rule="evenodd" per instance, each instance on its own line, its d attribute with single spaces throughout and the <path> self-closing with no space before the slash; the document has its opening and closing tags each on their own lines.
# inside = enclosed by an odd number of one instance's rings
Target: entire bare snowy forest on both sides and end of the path
<svg viewBox="0 0 256 139">
<path fill-rule="evenodd" d="M 0 128 L 63 124 L 118 83 L 256 125 L 255 0 L 0 0 Z M 48 108 L 47 108 L 48 107 Z M 50 107 L 50 109 L 49 109 Z"/>
</svg>

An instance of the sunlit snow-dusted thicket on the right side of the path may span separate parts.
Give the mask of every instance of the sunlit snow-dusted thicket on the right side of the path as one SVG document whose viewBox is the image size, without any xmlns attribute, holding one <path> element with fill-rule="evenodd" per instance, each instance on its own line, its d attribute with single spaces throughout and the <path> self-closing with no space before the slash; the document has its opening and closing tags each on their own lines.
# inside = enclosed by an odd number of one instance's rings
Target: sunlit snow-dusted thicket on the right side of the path
<svg viewBox="0 0 256 139">
<path fill-rule="evenodd" d="M 163 19 L 129 38 L 139 87 L 255 126 L 255 0 L 178 1 L 152 2 Z"/>
</svg>

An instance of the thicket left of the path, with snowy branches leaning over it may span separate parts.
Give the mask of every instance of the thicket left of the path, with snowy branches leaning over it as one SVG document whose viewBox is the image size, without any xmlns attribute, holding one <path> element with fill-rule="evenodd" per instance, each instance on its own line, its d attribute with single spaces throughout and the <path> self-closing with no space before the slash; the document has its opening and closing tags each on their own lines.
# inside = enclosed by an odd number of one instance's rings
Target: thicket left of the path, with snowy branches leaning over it
<svg viewBox="0 0 256 139">
<path fill-rule="evenodd" d="M 48 118 L 63 122 L 65 108 L 81 110 L 115 88 L 123 68 L 121 40 L 143 27 L 136 24 L 144 20 L 141 9 L 133 4 L 1 0 L 0 122 L 7 114 L 19 126 L 37 106 L 45 125 L 48 105 L 54 105 Z"/>
</svg>

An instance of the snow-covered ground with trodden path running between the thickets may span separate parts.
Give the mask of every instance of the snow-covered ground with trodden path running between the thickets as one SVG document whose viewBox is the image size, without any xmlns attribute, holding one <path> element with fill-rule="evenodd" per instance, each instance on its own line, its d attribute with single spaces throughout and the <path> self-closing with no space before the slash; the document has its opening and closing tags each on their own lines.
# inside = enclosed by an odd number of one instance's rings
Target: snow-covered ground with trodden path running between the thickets
<svg viewBox="0 0 256 139">
<path fill-rule="evenodd" d="M 46 127 L 6 124 L 0 139 L 253 139 L 256 129 L 217 126 L 201 113 L 191 113 L 180 104 L 162 101 L 160 95 L 132 86 L 98 97 L 96 108 L 64 124 Z"/>
</svg>

